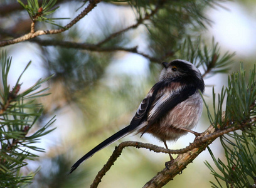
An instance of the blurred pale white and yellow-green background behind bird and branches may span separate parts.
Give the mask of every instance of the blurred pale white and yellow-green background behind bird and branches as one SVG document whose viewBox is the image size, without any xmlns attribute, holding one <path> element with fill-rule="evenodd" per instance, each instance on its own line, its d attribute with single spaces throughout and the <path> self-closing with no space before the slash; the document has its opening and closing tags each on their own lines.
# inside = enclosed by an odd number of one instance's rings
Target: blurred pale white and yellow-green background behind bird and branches
<svg viewBox="0 0 256 188">
<path fill-rule="evenodd" d="M 28 33 L 31 20 L 26 11 L 21 8 L 7 9 L 8 6 L 17 4 L 16 1 L 0 2 L 0 40 L 8 39 L 10 33 Z M 151 4 L 154 3 L 156 1 L 151 1 Z M 63 26 L 84 9 L 80 8 L 83 6 L 80 1 L 58 1 L 57 5 L 60 8 L 52 17 L 69 18 L 57 21 Z M 186 35 L 201 36 L 209 46 L 214 37 L 220 44 L 221 53 L 236 53 L 229 73 L 238 70 L 241 61 L 246 70 L 252 67 L 251 62 L 254 63 L 256 57 L 256 2 L 216 1 L 211 6 L 203 4 L 200 10 L 210 20 L 205 21 L 203 26 L 196 23 L 192 27 L 192 21 L 171 26 L 175 19 L 181 19 L 180 15 L 168 18 L 163 11 L 159 13 L 163 18 L 157 17 L 152 21 L 153 24 L 141 24 L 136 29 L 110 39 L 104 45 L 124 48 L 137 46 L 141 53 L 161 61 L 171 61 L 181 56 L 173 51 L 182 44 Z M 137 18 L 138 14 L 127 3 L 102 2 L 68 31 L 39 38 L 46 41 L 56 39 L 95 44 L 111 33 L 135 24 Z M 161 23 L 166 18 L 169 25 Z M 56 26 L 43 23 L 36 25 L 36 29 L 51 28 Z M 26 173 L 35 171 L 39 166 L 41 168 L 31 187 L 89 187 L 97 172 L 109 159 L 115 145 L 125 140 L 164 147 L 151 135 L 143 135 L 142 138 L 140 135 L 129 135 L 93 155 L 68 175 L 70 167 L 88 150 L 129 124 L 139 103 L 156 83 L 161 65 L 145 56 L 124 50 L 99 52 L 65 47 L 26 41 L 2 48 L 13 57 L 9 75 L 11 87 L 30 60 L 32 65 L 21 79 L 21 90 L 26 90 L 39 78 L 55 75 L 48 81 L 48 85 L 44 85 L 50 87 L 51 95 L 40 100 L 45 111 L 38 126 L 44 125 L 56 115 L 56 122 L 52 126 L 57 128 L 41 140 L 40 147 L 45 149 L 45 153 L 38 153 L 38 160 L 29 161 L 24 169 Z M 209 105 L 212 101 L 212 86 L 215 86 L 218 93 L 223 85 L 227 85 L 227 80 L 228 74 L 206 76 L 205 100 Z M 203 132 L 208 126 L 208 117 L 203 114 L 195 130 Z M 170 142 L 169 148 L 181 149 L 193 142 L 194 138 L 188 134 L 175 143 Z M 217 157 L 223 156 L 218 140 L 210 147 Z M 164 168 L 168 157 L 145 149 L 126 148 L 99 187 L 142 187 Z M 214 181 L 214 178 L 203 164 L 205 160 L 211 163 L 207 151 L 200 154 L 193 164 L 183 170 L 182 175 L 177 175 L 165 187 L 210 187 L 209 181 Z"/>
</svg>

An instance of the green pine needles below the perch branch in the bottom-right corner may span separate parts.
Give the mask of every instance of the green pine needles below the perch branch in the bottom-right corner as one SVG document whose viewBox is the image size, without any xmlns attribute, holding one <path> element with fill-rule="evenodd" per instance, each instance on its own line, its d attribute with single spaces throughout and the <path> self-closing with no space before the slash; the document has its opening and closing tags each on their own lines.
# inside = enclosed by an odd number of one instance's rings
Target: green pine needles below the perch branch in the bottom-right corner
<svg viewBox="0 0 256 188">
<path fill-rule="evenodd" d="M 215 176 L 218 185 L 211 182 L 213 187 L 222 187 L 220 180 L 225 182 L 227 187 L 253 187 L 256 181 L 256 130 L 252 133 L 233 132 L 225 137 L 221 137 L 221 145 L 225 149 L 227 162 L 216 159 L 210 151 L 211 157 L 220 172 L 211 167 L 208 162 L 206 166 Z"/>
</svg>

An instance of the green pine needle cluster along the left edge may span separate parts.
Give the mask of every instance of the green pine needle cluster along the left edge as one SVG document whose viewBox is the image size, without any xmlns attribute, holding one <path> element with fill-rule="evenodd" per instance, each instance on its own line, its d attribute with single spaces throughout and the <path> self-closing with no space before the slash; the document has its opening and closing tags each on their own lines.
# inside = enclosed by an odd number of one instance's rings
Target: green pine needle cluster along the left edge
<svg viewBox="0 0 256 188">
<path fill-rule="evenodd" d="M 38 157 L 33 154 L 33 150 L 44 151 L 35 144 L 40 142 L 43 135 L 54 130 L 54 128 L 49 130 L 48 127 L 55 120 L 52 118 L 39 130 L 33 130 L 43 112 L 43 107 L 36 104 L 33 99 L 48 95 L 45 94 L 47 88 L 41 90 L 39 88 L 50 77 L 38 80 L 35 85 L 19 93 L 21 88 L 19 81 L 25 70 L 19 76 L 16 85 L 10 90 L 8 85 L 10 67 L 11 58 L 7 58 L 6 53 L 2 53 L 0 65 L 1 85 L 3 86 L 0 91 L 0 186 L 20 187 L 25 186 L 33 179 L 33 174 L 23 175 L 21 167 L 28 165 L 28 160 Z"/>
</svg>

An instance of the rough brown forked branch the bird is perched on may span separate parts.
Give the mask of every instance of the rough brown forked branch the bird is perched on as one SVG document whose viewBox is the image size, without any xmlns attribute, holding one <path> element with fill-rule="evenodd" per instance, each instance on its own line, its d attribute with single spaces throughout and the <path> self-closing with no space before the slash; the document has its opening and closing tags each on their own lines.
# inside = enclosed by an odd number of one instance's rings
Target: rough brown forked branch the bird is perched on
<svg viewBox="0 0 256 188">
<path fill-rule="evenodd" d="M 223 113 L 223 115 L 225 115 L 225 113 Z M 201 133 L 199 138 L 196 138 L 193 143 L 189 144 L 188 147 L 179 150 L 164 149 L 163 147 L 158 147 L 152 144 L 143 144 L 140 142 L 122 142 L 117 147 L 115 147 L 115 150 L 107 161 L 107 164 L 105 164 L 104 167 L 98 172 L 95 179 L 93 180 L 93 184 L 90 187 L 98 187 L 102 177 L 104 177 L 107 171 L 110 170 L 110 167 L 114 165 L 115 160 L 117 160 L 117 158 L 121 155 L 122 150 L 125 147 L 136 147 L 138 149 L 145 148 L 158 153 L 162 152 L 166 154 L 179 154 L 178 157 L 168 167 L 168 169 L 164 168 L 144 185 L 144 188 L 163 187 L 170 180 L 173 180 L 177 174 L 184 170 L 189 163 L 193 162 L 193 160 L 201 152 L 203 152 L 203 150 L 205 150 L 206 147 L 208 147 L 208 145 L 210 145 L 216 138 L 224 135 L 225 133 L 233 132 L 235 130 L 242 130 L 243 128 L 250 126 L 250 123 L 248 122 L 236 126 L 233 123 L 230 124 L 232 124 L 232 127 L 230 127 L 230 125 L 222 130 L 218 130 L 211 125 L 207 130 L 205 130 L 205 132 Z"/>
</svg>

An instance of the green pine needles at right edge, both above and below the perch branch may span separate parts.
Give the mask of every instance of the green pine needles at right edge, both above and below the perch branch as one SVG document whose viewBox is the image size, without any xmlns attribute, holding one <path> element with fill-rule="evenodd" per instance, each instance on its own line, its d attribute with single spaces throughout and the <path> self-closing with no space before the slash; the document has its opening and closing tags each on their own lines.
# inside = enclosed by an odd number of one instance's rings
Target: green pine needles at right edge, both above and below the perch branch
<svg viewBox="0 0 256 188">
<path fill-rule="evenodd" d="M 220 170 L 220 172 L 216 172 L 206 162 L 218 185 L 211 183 L 213 187 L 222 187 L 220 180 L 223 180 L 227 187 L 253 187 L 256 182 L 255 66 L 246 81 L 245 71 L 241 65 L 240 72 L 233 73 L 228 78 L 226 93 L 225 120 L 220 123 L 220 128 L 225 126 L 225 122 L 229 122 L 233 126 L 242 125 L 244 128 L 242 132 L 228 133 L 220 138 L 227 162 L 216 159 L 209 149 L 216 167 Z M 222 97 L 224 95 L 221 94 L 220 98 Z M 220 114 L 218 117 L 220 118 Z"/>
</svg>

